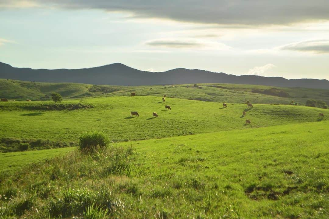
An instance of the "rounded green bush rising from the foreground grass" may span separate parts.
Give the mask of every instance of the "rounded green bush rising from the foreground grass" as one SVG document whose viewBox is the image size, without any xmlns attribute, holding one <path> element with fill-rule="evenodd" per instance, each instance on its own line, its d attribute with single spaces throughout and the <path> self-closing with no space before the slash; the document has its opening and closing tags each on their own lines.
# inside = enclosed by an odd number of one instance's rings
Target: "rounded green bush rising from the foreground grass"
<svg viewBox="0 0 329 219">
<path fill-rule="evenodd" d="M 93 153 L 97 149 L 107 146 L 110 139 L 102 132 L 87 132 L 80 136 L 79 147 L 84 153 Z"/>
</svg>

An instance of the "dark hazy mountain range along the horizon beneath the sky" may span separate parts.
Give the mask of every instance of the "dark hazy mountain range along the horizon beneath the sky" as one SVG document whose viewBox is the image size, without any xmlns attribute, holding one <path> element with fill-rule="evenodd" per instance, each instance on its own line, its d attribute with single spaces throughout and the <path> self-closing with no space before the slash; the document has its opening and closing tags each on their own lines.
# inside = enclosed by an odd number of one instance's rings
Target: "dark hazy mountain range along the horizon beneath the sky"
<svg viewBox="0 0 329 219">
<path fill-rule="evenodd" d="M 84 69 L 14 68 L 0 62 L 0 78 L 38 82 L 76 82 L 107 85 L 165 85 L 191 83 L 257 84 L 277 87 L 306 87 L 329 89 L 329 81 L 322 79 L 286 79 L 254 75 L 227 75 L 199 69 L 177 68 L 166 72 L 147 72 L 114 63 Z"/>
</svg>

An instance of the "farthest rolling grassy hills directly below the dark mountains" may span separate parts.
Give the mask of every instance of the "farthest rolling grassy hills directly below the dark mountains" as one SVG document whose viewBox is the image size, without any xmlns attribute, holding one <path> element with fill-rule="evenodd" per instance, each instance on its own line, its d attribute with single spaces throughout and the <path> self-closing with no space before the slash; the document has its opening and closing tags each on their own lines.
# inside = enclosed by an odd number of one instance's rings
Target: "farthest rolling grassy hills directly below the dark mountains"
<svg viewBox="0 0 329 219">
<path fill-rule="evenodd" d="M 79 83 L 41 83 L 31 81 L 0 79 L 0 97 L 10 100 L 47 100 L 52 92 L 60 93 L 64 98 L 83 98 L 95 96 L 129 96 L 136 92 L 138 96 L 163 96 L 181 99 L 193 99 L 212 102 L 289 104 L 291 100 L 304 105 L 307 99 L 323 100 L 329 104 L 329 91 L 309 88 L 277 88 L 290 94 L 289 98 L 252 93 L 252 90 L 266 90 L 272 87 L 242 84 L 193 84 L 172 86 L 111 86 Z M 217 87 L 212 87 L 217 86 Z M 218 88 L 219 87 L 219 88 Z"/>
</svg>

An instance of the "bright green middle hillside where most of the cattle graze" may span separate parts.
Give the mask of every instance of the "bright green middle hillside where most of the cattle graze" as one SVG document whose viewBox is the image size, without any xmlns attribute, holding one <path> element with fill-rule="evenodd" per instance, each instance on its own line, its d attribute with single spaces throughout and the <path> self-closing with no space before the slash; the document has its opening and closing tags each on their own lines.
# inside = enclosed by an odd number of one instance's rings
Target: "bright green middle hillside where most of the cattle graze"
<svg viewBox="0 0 329 219">
<path fill-rule="evenodd" d="M 89 98 L 83 103 L 93 108 L 49 110 L 51 102 L 0 102 L 0 137 L 76 142 L 81 133 L 98 130 L 114 141 L 128 141 L 312 122 L 319 112 L 328 114 L 325 109 L 290 105 L 254 104 L 247 109 L 246 104 L 227 103 L 223 108 L 221 103 L 175 98 L 163 103 L 154 96 Z M 165 104 L 170 111 L 164 110 Z M 138 111 L 139 117 L 130 117 L 131 111 Z M 159 117 L 152 118 L 152 112 Z M 250 125 L 245 125 L 246 119 Z"/>
</svg>

